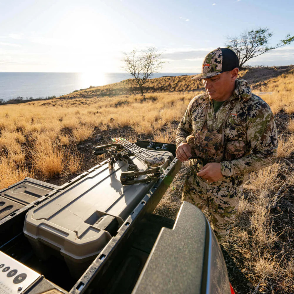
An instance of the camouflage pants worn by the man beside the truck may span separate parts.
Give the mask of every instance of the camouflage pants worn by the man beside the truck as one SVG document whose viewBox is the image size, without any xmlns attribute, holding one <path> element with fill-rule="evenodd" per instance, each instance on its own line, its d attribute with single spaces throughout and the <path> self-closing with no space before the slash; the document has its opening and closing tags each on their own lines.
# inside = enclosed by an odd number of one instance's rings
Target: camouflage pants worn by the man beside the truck
<svg viewBox="0 0 294 294">
<path fill-rule="evenodd" d="M 221 244 L 230 232 L 238 209 L 243 186 L 219 187 L 204 182 L 189 169 L 184 184 L 182 202 L 188 201 L 203 210 L 208 209 L 211 216 L 211 227 Z"/>
</svg>

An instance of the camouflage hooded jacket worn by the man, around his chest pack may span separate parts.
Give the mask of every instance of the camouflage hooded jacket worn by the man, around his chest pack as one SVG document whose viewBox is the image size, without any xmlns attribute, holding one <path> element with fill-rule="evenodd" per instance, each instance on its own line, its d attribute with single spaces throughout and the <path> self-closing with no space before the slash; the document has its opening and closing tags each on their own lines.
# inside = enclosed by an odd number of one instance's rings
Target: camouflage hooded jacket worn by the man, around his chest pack
<svg viewBox="0 0 294 294">
<path fill-rule="evenodd" d="M 186 141 L 188 135 L 200 131 L 204 122 L 204 109 L 208 105 L 207 93 L 194 97 L 188 105 L 177 132 L 177 146 Z M 240 186 L 251 171 L 265 168 L 275 162 L 278 139 L 273 113 L 260 97 L 251 93 L 245 80 L 236 80 L 236 88 L 231 96 L 214 113 L 212 101 L 207 113 L 208 131 L 219 128 L 228 113 L 231 101 L 238 99 L 224 128 L 225 146 L 228 142 L 243 141 L 245 152 L 241 158 L 221 162 L 223 178 L 214 184 Z M 243 144 L 244 145 L 244 144 Z"/>
</svg>

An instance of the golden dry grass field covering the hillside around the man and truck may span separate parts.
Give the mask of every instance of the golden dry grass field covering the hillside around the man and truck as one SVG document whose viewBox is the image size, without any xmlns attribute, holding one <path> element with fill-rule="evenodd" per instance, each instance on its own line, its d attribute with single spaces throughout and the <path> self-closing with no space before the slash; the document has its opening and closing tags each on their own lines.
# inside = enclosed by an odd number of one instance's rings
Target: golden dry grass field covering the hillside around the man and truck
<svg viewBox="0 0 294 294">
<path fill-rule="evenodd" d="M 271 213 L 283 191 L 293 185 L 293 85 L 293 71 L 261 86 L 253 85 L 255 93 L 272 92 L 262 98 L 274 114 L 284 110 L 290 119 L 287 129 L 279 135 L 277 162 L 252 173 L 245 184 L 236 225 L 224 244 L 232 256 L 243 260 L 243 274 L 254 285 L 248 293 L 270 287 L 278 289 L 276 293 L 293 293 L 294 289 L 294 250 L 285 252 L 277 245 L 284 242 L 287 228 L 274 230 Z M 114 84 L 111 90 L 103 86 L 62 98 L 0 106 L 0 188 L 25 176 L 46 181 L 56 175 L 78 173 L 84 158 L 76 146 L 101 131 L 119 132 L 128 127 L 131 131 L 127 139 L 132 141 L 144 134 L 155 141 L 175 143 L 176 127 L 191 98 L 203 91 L 201 83 L 191 85 L 187 76 L 158 78 L 148 81 L 147 88 L 166 92 L 146 93 L 145 97 L 120 94 L 135 86 L 127 80 Z M 156 213 L 176 216 L 186 168 L 183 165 Z"/>
</svg>

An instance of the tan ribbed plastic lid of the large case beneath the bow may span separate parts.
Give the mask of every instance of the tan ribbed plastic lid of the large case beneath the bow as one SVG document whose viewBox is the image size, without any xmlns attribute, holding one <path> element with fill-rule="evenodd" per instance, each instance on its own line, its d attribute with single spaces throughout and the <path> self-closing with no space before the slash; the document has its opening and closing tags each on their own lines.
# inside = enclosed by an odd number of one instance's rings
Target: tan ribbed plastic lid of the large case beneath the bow
<svg viewBox="0 0 294 294">
<path fill-rule="evenodd" d="M 168 151 L 149 152 L 166 158 L 163 169 L 168 167 L 170 158 L 173 159 Z M 136 157 L 131 159 L 140 171 L 146 169 Z M 97 255 L 111 239 L 106 229 L 113 233 L 116 226 L 122 225 L 155 183 L 123 186 L 119 179 L 121 172 L 126 171 L 126 163 L 118 161 L 113 169 L 105 163 L 81 175 L 81 179 L 72 180 L 71 185 L 32 208 L 26 215 L 24 234 L 60 250 L 75 262 Z M 103 217 L 105 215 L 115 217 L 116 222 Z M 102 217 L 103 222 L 99 222 Z"/>
</svg>

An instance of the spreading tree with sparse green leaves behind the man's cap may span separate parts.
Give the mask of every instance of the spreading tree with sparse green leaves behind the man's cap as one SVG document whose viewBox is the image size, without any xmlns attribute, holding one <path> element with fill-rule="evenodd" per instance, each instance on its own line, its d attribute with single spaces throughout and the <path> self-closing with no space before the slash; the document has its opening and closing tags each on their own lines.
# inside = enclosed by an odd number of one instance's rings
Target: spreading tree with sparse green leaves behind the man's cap
<svg viewBox="0 0 294 294">
<path fill-rule="evenodd" d="M 249 59 L 264 54 L 270 50 L 280 48 L 294 41 L 294 36 L 288 34 L 285 39 L 280 40 L 274 47 L 268 46 L 268 40 L 273 36 L 268 28 L 259 28 L 257 30 L 244 31 L 240 36 L 227 37 L 225 46 L 232 49 L 238 56 L 240 68 Z"/>
</svg>

